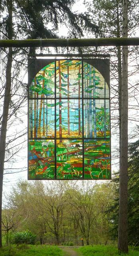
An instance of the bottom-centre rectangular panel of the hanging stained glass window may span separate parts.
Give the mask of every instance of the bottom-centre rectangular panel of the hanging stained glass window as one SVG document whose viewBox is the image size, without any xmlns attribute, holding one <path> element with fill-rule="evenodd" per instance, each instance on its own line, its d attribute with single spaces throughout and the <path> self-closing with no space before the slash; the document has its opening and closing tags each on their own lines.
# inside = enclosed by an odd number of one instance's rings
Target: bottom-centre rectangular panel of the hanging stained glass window
<svg viewBox="0 0 139 256">
<path fill-rule="evenodd" d="M 82 140 L 57 140 L 57 179 L 82 179 Z"/>
</svg>

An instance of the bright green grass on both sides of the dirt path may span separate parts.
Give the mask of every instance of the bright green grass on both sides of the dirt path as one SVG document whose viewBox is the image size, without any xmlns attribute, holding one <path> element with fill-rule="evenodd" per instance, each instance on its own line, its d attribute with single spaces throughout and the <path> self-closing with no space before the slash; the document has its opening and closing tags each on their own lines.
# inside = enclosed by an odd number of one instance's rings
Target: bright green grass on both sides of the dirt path
<svg viewBox="0 0 139 256">
<path fill-rule="evenodd" d="M 139 256 L 139 250 L 131 248 L 129 254 L 119 254 L 115 246 L 82 246 L 74 250 L 78 256 Z M 64 256 L 64 252 L 57 246 L 20 244 L 2 247 L 0 256 Z"/>
</svg>

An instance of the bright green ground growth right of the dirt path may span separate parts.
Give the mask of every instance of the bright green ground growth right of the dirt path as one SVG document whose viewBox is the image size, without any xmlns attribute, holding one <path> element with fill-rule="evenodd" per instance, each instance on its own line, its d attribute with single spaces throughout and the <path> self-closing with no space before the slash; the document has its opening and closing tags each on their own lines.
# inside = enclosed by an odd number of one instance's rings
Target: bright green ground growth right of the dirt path
<svg viewBox="0 0 139 256">
<path fill-rule="evenodd" d="M 77 249 L 78 251 L 82 253 L 82 256 L 139 256 L 139 251 L 137 250 L 129 249 L 128 254 L 120 254 L 116 247 L 103 245 L 82 246 Z"/>
</svg>

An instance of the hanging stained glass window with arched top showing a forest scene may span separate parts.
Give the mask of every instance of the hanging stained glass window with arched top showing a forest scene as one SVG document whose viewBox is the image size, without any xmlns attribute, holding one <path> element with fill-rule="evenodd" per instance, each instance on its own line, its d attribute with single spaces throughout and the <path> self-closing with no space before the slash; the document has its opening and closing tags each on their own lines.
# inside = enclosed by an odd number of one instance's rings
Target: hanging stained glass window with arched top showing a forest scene
<svg viewBox="0 0 139 256">
<path fill-rule="evenodd" d="M 108 60 L 29 61 L 28 178 L 110 179 Z"/>
</svg>

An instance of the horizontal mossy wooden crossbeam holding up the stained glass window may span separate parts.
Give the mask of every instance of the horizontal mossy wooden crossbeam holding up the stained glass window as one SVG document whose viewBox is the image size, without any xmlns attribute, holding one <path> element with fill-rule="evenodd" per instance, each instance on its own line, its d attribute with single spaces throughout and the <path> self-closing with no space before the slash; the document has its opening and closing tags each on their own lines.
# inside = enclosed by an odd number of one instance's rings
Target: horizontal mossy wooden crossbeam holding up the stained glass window
<svg viewBox="0 0 139 256">
<path fill-rule="evenodd" d="M 87 47 L 139 45 L 139 38 L 26 39 L 0 40 L 0 47 Z"/>
</svg>

